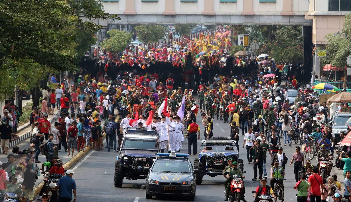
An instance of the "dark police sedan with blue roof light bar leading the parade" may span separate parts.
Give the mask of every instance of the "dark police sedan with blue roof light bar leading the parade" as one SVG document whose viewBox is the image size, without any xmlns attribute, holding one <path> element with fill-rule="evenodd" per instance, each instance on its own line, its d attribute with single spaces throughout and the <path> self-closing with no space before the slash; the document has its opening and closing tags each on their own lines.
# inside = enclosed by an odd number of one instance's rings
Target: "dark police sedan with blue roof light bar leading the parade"
<svg viewBox="0 0 351 202">
<path fill-rule="evenodd" d="M 193 168 L 187 158 L 189 155 L 174 151 L 157 155 L 152 167 L 144 168 L 144 172 L 148 172 L 145 198 L 174 195 L 195 200 L 196 174 L 199 170 Z"/>
</svg>

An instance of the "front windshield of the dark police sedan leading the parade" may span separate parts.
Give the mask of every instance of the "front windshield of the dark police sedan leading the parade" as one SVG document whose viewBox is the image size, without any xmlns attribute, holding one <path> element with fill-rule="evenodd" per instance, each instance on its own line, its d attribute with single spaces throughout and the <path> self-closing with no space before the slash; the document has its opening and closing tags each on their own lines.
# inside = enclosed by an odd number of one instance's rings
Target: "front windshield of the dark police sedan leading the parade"
<svg viewBox="0 0 351 202">
<path fill-rule="evenodd" d="M 152 167 L 155 173 L 190 173 L 189 163 L 186 161 L 155 161 Z"/>
</svg>

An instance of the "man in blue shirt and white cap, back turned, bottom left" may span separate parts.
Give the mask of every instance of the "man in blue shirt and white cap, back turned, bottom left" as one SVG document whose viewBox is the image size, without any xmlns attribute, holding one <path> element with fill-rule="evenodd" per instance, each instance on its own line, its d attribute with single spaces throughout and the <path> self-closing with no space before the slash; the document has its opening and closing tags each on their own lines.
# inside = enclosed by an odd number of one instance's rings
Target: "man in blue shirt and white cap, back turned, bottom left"
<svg viewBox="0 0 351 202">
<path fill-rule="evenodd" d="M 77 201 L 77 187 L 75 186 L 75 181 L 72 179 L 73 174 L 72 170 L 67 170 L 66 176 L 61 177 L 57 182 L 56 190 L 60 189 L 60 202 L 72 201 L 72 191 L 74 194 L 73 201 Z"/>
</svg>

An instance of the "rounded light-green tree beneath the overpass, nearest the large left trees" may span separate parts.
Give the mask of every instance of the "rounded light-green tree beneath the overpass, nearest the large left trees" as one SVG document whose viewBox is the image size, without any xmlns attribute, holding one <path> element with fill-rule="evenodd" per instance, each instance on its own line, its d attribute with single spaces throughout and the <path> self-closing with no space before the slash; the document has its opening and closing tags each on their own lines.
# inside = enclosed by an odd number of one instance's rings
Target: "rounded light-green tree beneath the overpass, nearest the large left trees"
<svg viewBox="0 0 351 202">
<path fill-rule="evenodd" d="M 107 32 L 110 38 L 101 43 L 101 47 L 107 51 L 122 52 L 127 44 L 132 40 L 132 34 L 113 29 Z"/>
</svg>

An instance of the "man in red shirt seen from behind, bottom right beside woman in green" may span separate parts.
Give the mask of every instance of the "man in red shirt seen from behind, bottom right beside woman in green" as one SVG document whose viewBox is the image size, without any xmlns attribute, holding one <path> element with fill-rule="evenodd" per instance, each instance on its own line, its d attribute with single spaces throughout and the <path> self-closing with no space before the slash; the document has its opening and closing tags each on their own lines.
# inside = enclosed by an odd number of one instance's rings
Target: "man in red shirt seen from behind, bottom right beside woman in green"
<svg viewBox="0 0 351 202">
<path fill-rule="evenodd" d="M 311 202 L 314 201 L 321 201 L 320 195 L 324 192 L 323 187 L 323 180 L 320 175 L 318 175 L 318 168 L 314 166 L 312 168 L 313 174 L 308 178 L 309 189 L 311 191 L 310 200 Z M 321 191 L 322 190 L 322 191 Z"/>
</svg>

